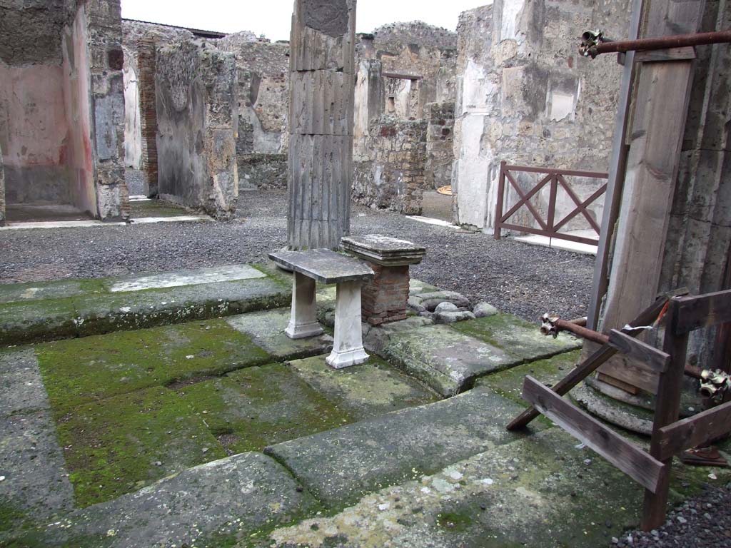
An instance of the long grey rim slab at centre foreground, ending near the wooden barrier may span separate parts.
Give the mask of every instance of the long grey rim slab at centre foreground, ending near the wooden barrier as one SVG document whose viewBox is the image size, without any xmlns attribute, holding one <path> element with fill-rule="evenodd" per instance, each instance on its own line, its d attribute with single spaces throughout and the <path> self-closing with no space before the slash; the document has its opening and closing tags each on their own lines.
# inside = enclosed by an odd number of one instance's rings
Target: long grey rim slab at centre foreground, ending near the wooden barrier
<svg viewBox="0 0 731 548">
<path fill-rule="evenodd" d="M 511 433 L 520 407 L 488 389 L 402 409 L 336 430 L 270 446 L 265 453 L 295 474 L 325 506 L 434 473 L 531 432 Z"/>
</svg>

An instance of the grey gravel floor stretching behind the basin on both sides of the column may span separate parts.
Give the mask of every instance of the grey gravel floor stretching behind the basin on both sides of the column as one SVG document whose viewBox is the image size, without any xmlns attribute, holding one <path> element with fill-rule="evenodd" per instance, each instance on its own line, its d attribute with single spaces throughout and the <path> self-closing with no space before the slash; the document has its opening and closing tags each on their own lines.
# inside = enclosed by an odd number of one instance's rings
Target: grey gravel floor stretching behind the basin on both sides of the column
<svg viewBox="0 0 731 548">
<path fill-rule="evenodd" d="M 0 283 L 97 278 L 257 262 L 287 243 L 284 191 L 246 192 L 242 217 L 228 223 L 148 224 L 0 234 Z M 486 300 L 531 321 L 545 312 L 586 313 L 594 257 L 495 241 L 354 207 L 352 233 L 402 237 L 428 248 L 412 276 Z M 561 273 L 561 275 L 553 275 Z"/>
</svg>

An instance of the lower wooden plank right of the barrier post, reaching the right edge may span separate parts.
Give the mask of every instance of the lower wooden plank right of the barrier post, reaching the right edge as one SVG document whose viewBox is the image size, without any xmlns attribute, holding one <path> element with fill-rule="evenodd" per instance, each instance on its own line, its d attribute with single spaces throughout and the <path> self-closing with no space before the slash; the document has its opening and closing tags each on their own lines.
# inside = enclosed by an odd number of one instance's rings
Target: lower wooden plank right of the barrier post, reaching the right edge
<svg viewBox="0 0 731 548">
<path fill-rule="evenodd" d="M 670 459 L 685 449 L 713 441 L 729 432 L 731 432 L 731 402 L 660 428 L 657 442 L 658 457 L 660 460 Z"/>
</svg>

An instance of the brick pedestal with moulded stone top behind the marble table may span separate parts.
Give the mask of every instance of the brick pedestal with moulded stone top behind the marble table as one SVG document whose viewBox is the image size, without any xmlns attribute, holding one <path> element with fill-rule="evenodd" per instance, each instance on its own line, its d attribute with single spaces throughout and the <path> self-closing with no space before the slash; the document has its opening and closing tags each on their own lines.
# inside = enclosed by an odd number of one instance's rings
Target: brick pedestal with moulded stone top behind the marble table
<svg viewBox="0 0 731 548">
<path fill-rule="evenodd" d="M 425 248 L 381 235 L 344 237 L 341 248 L 368 262 L 376 273 L 363 285 L 361 313 L 371 325 L 406 319 L 409 266 L 423 259 Z"/>
</svg>

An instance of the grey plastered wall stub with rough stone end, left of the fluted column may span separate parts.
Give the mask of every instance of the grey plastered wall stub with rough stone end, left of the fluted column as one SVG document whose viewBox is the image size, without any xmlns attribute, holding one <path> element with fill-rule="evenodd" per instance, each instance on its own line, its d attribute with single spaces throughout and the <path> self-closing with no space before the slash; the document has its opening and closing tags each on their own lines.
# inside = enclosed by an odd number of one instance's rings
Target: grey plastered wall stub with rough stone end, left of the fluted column
<svg viewBox="0 0 731 548">
<path fill-rule="evenodd" d="M 159 196 L 228 219 L 238 200 L 235 57 L 202 41 L 156 56 Z"/>
</svg>

